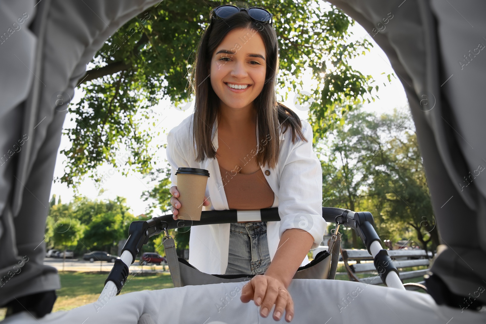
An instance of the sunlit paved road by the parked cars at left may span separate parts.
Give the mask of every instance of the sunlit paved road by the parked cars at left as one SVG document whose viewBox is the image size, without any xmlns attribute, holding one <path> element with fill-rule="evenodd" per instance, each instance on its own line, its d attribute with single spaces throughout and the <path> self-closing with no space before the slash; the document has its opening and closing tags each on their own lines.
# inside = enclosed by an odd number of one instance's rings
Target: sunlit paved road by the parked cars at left
<svg viewBox="0 0 486 324">
<path fill-rule="evenodd" d="M 44 258 L 44 264 L 52 266 L 56 268 L 58 271 L 63 270 L 62 263 L 63 263 L 63 259 L 57 259 L 52 257 Z M 113 263 L 106 262 L 106 261 L 89 262 L 89 261 L 78 260 L 78 259 L 66 259 L 66 262 L 64 264 L 65 271 L 96 272 L 96 271 L 110 271 L 111 268 L 113 268 Z M 137 261 L 130 266 L 130 271 L 131 272 L 149 272 L 149 271 L 167 272 L 169 270 L 168 268 L 169 268 L 168 266 L 160 266 L 160 265 L 140 266 Z"/>
</svg>

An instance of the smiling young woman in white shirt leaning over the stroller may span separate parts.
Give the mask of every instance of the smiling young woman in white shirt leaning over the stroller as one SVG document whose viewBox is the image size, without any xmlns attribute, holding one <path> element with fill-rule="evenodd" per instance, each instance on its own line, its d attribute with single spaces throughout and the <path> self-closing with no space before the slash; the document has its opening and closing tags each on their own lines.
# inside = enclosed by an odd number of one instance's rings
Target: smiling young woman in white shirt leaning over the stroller
<svg viewBox="0 0 486 324">
<path fill-rule="evenodd" d="M 209 171 L 206 210 L 278 207 L 280 222 L 191 227 L 190 261 L 205 273 L 253 273 L 241 300 L 287 322 L 287 291 L 325 234 L 322 170 L 312 127 L 276 100 L 278 39 L 262 8 L 220 6 L 202 34 L 192 71 L 194 113 L 167 136 L 170 192 L 177 219 L 179 167 Z M 271 262 L 270 262 L 271 261 Z"/>
</svg>

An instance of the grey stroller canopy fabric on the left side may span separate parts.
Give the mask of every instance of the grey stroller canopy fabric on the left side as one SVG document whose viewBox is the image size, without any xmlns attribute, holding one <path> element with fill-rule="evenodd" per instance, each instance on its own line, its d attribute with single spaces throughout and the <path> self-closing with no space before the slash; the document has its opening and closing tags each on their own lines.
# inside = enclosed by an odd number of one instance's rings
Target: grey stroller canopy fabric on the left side
<svg viewBox="0 0 486 324">
<path fill-rule="evenodd" d="M 60 288 L 43 239 L 68 98 L 106 39 L 159 1 L 0 1 L 0 306 Z"/>
</svg>

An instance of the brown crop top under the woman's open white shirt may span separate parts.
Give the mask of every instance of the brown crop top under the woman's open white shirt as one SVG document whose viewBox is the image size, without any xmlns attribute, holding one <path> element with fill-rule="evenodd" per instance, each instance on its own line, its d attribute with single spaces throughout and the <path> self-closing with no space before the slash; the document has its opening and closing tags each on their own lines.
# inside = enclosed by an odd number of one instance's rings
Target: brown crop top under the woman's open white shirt
<svg viewBox="0 0 486 324">
<path fill-rule="evenodd" d="M 251 174 L 227 171 L 221 166 L 221 179 L 225 188 L 229 209 L 253 210 L 270 208 L 275 193 L 267 182 L 261 169 Z"/>
</svg>

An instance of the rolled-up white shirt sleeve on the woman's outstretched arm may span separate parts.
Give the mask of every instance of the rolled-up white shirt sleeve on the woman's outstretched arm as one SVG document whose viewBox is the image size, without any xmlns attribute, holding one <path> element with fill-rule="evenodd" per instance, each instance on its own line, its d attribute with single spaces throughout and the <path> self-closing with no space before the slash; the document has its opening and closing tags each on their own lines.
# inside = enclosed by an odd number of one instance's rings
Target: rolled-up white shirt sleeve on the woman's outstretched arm
<svg viewBox="0 0 486 324">
<path fill-rule="evenodd" d="M 311 250 L 323 239 L 327 223 L 322 218 L 322 169 L 312 150 L 312 127 L 302 120 L 302 133 L 308 140 L 295 140 L 280 172 L 278 236 L 290 228 L 300 228 L 314 238 Z M 291 135 L 287 135 L 291 136 Z"/>
</svg>

